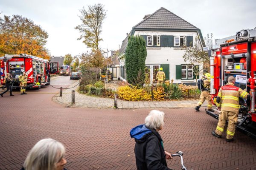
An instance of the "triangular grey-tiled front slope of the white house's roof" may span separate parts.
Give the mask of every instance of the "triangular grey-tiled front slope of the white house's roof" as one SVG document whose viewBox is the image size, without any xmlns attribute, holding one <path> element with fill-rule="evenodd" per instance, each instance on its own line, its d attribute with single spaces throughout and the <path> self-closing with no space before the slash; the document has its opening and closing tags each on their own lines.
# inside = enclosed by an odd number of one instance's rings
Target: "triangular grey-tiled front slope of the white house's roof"
<svg viewBox="0 0 256 170">
<path fill-rule="evenodd" d="M 163 7 L 146 17 L 134 28 L 198 29 Z"/>
</svg>

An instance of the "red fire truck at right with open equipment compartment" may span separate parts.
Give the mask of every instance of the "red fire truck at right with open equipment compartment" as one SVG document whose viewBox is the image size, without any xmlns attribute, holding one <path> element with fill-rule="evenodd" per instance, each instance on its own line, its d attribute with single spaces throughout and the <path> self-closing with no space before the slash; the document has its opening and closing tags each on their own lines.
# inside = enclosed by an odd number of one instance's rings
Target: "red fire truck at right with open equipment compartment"
<svg viewBox="0 0 256 170">
<path fill-rule="evenodd" d="M 208 51 L 210 57 L 212 103 L 221 86 L 227 83 L 229 76 L 236 77 L 235 86 L 246 89 L 251 94 L 250 101 L 239 99 L 239 120 L 236 128 L 256 139 L 256 30 L 244 29 L 236 35 L 215 41 L 213 49 Z M 218 119 L 218 111 L 207 111 Z"/>
</svg>

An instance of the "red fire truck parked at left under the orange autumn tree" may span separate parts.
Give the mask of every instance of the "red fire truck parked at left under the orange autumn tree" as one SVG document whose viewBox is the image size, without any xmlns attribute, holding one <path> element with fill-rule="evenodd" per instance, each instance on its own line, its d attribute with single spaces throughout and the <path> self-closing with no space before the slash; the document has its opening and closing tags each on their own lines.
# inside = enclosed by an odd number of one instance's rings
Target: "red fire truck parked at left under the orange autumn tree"
<svg viewBox="0 0 256 170">
<path fill-rule="evenodd" d="M 56 64 L 51 63 L 52 65 Z M 54 74 L 55 71 L 58 71 L 58 68 L 50 68 L 50 63 L 47 59 L 27 54 L 0 57 L 0 77 L 3 88 L 5 87 L 3 80 L 6 73 L 9 73 L 11 79 L 14 80 L 13 89 L 20 88 L 18 76 L 23 71 L 26 71 L 28 76 L 27 87 L 40 89 L 41 85 L 50 85 L 50 73 Z"/>
</svg>

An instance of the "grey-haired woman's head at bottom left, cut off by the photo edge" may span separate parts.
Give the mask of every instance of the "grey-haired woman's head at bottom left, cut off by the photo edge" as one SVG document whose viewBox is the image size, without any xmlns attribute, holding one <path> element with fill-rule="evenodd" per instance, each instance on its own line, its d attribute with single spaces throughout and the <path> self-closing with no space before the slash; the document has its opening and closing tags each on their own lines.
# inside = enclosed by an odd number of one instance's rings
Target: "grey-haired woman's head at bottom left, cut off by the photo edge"
<svg viewBox="0 0 256 170">
<path fill-rule="evenodd" d="M 66 170 L 65 147 L 54 139 L 42 139 L 29 151 L 21 170 Z"/>
</svg>

